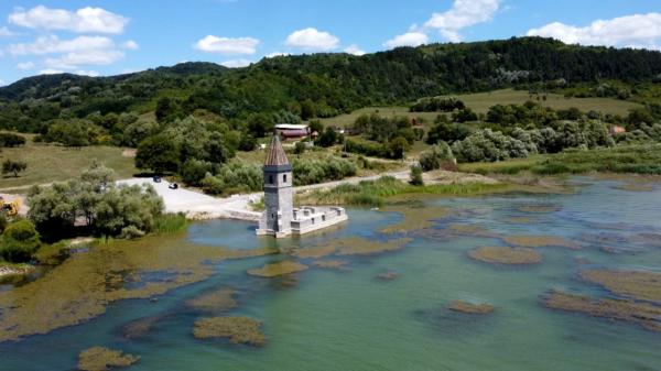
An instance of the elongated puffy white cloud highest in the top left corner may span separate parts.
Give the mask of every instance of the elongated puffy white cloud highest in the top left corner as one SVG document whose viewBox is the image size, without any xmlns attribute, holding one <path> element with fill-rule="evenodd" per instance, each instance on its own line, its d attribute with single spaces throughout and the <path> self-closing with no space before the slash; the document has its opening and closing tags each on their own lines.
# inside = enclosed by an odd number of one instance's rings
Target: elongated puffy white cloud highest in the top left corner
<svg viewBox="0 0 661 371">
<path fill-rule="evenodd" d="M 87 7 L 73 12 L 39 6 L 30 10 L 17 8 L 9 22 L 28 29 L 118 34 L 124 31 L 129 19 L 101 8 Z"/>
</svg>

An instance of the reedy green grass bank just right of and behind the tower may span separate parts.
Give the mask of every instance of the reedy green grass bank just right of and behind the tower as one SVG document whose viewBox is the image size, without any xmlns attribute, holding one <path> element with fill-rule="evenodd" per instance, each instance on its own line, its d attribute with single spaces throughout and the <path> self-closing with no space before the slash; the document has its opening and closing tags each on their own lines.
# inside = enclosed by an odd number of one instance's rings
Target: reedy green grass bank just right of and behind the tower
<svg viewBox="0 0 661 371">
<path fill-rule="evenodd" d="M 383 206 L 388 198 L 402 195 L 473 196 L 495 192 L 514 190 L 510 184 L 435 184 L 413 186 L 390 176 L 359 184 L 343 184 L 332 189 L 316 189 L 296 195 L 299 204 L 306 205 L 356 205 L 368 207 Z"/>
</svg>

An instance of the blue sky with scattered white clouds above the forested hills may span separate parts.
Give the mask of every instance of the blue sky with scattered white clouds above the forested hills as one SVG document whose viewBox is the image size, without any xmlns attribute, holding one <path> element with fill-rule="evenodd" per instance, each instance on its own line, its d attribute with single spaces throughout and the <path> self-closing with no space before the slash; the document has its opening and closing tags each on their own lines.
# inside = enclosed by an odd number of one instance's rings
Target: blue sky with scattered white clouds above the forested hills
<svg viewBox="0 0 661 371">
<path fill-rule="evenodd" d="M 527 34 L 658 50 L 661 0 L 2 0 L 0 85 Z"/>
</svg>

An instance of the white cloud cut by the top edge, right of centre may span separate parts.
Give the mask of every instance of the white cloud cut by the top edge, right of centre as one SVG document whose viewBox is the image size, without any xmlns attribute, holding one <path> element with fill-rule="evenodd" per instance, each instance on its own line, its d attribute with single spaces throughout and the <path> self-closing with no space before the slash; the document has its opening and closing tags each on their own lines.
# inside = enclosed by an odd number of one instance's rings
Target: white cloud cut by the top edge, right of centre
<svg viewBox="0 0 661 371">
<path fill-rule="evenodd" d="M 490 21 L 499 7 L 500 0 L 455 0 L 448 11 L 432 14 L 424 26 L 438 30 L 452 42 L 459 42 L 462 29 Z"/>
</svg>

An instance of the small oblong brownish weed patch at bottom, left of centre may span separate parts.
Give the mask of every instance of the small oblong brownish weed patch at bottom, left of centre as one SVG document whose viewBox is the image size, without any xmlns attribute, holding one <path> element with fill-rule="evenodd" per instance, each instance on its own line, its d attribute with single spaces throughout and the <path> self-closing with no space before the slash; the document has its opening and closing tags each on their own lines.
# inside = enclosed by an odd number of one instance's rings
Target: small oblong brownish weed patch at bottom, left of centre
<svg viewBox="0 0 661 371">
<path fill-rule="evenodd" d="M 227 338 L 231 343 L 262 347 L 267 339 L 260 332 L 261 323 L 249 317 L 213 317 L 195 323 L 193 336 L 197 339 Z"/>
</svg>

